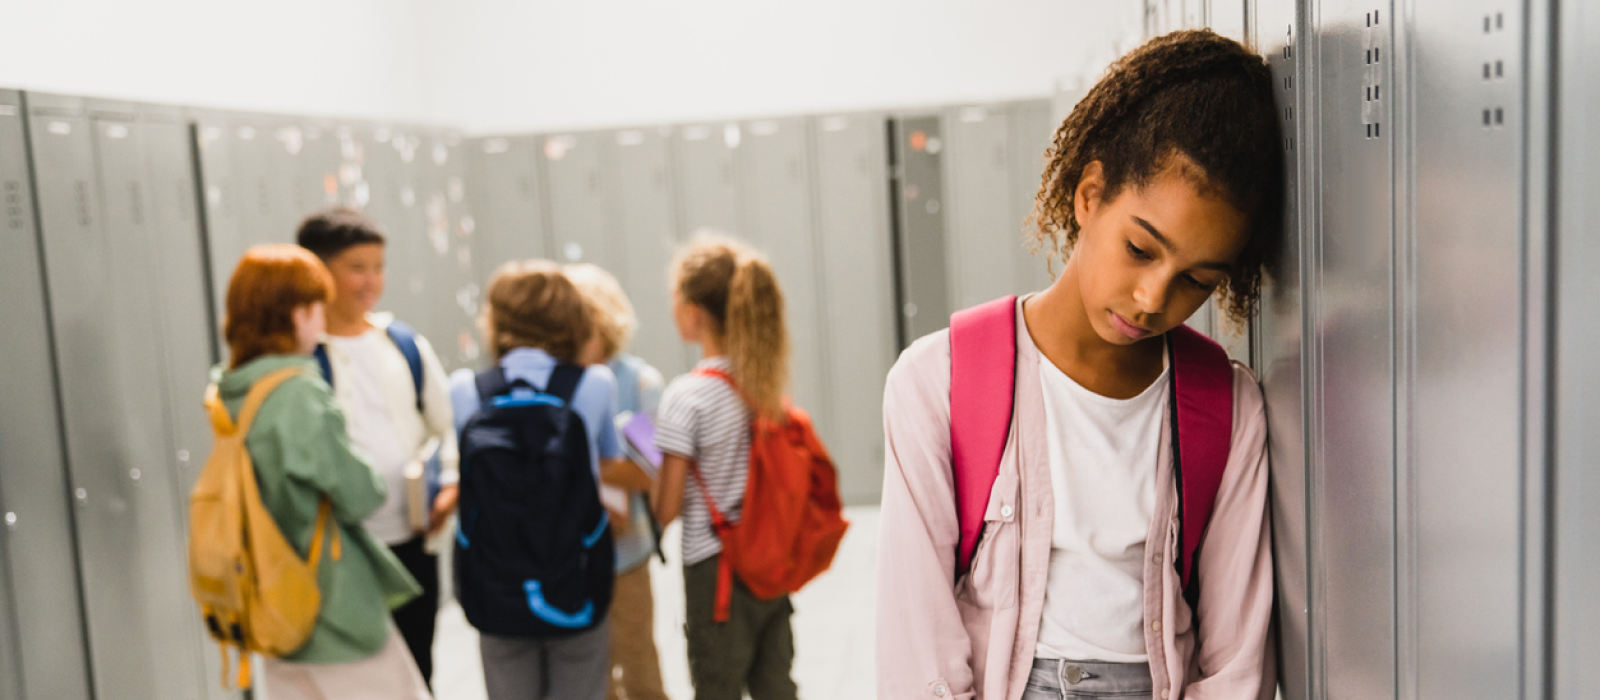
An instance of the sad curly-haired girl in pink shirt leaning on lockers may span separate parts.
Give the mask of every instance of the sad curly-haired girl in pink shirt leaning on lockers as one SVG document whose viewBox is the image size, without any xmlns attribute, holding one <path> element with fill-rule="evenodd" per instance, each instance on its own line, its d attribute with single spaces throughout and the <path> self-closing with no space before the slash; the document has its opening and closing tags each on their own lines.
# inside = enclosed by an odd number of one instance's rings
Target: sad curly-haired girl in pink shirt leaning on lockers
<svg viewBox="0 0 1600 700">
<path fill-rule="evenodd" d="M 1061 276 L 890 371 L 880 698 L 1272 697 L 1261 390 L 1181 324 L 1254 313 L 1280 144 L 1266 61 L 1203 30 L 1056 131 L 1032 237 Z"/>
</svg>

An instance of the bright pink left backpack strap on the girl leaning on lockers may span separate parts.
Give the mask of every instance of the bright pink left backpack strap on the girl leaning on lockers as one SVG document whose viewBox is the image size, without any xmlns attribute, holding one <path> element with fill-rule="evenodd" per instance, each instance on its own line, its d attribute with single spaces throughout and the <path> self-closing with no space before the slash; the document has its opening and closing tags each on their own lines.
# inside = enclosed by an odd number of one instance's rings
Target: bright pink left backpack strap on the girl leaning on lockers
<svg viewBox="0 0 1600 700">
<path fill-rule="evenodd" d="M 1016 297 L 950 315 L 950 470 L 960 539 L 955 572 L 971 566 L 1006 433 L 1016 384 Z"/>
</svg>

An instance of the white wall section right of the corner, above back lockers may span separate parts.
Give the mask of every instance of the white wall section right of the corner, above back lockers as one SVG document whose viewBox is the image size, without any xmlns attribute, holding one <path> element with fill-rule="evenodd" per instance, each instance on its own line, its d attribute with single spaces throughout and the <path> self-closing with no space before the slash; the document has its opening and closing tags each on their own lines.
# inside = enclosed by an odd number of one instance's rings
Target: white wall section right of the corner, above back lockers
<svg viewBox="0 0 1600 700">
<path fill-rule="evenodd" d="M 472 133 L 1042 97 L 1139 0 L 424 0 L 427 110 Z"/>
</svg>

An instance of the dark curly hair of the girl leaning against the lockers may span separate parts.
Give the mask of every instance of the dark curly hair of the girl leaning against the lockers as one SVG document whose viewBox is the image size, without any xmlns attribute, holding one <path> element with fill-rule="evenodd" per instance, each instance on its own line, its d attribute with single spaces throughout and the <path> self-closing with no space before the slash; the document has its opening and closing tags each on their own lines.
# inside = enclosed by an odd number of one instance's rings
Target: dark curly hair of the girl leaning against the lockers
<svg viewBox="0 0 1600 700">
<path fill-rule="evenodd" d="M 1101 161 L 1110 201 L 1184 157 L 1198 166 L 1186 169 L 1202 192 L 1246 216 L 1250 240 L 1221 289 L 1229 315 L 1246 320 L 1261 296 L 1262 264 L 1282 245 L 1282 144 L 1266 59 L 1210 30 L 1152 38 L 1114 62 L 1056 129 L 1030 243 L 1062 257 L 1077 243 L 1074 195 L 1090 163 Z"/>
</svg>

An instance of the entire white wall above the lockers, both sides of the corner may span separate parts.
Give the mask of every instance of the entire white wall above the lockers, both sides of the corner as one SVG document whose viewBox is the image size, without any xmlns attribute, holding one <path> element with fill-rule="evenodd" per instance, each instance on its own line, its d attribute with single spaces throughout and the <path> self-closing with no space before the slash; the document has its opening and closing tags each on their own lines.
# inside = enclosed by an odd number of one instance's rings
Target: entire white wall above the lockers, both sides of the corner
<svg viewBox="0 0 1600 700">
<path fill-rule="evenodd" d="M 1141 0 L 0 0 L 0 86 L 586 128 L 1037 97 Z"/>
</svg>

